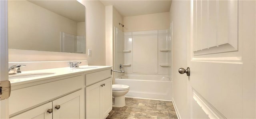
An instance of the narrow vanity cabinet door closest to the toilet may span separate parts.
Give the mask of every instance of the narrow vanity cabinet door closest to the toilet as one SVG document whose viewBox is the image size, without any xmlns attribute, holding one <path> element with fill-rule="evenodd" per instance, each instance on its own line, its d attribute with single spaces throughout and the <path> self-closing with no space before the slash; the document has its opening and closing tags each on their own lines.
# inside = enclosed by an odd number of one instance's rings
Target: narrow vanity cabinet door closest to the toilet
<svg viewBox="0 0 256 119">
<path fill-rule="evenodd" d="M 106 117 L 112 110 L 112 78 L 102 81 L 102 117 Z"/>
</svg>

